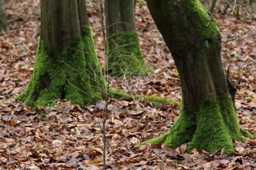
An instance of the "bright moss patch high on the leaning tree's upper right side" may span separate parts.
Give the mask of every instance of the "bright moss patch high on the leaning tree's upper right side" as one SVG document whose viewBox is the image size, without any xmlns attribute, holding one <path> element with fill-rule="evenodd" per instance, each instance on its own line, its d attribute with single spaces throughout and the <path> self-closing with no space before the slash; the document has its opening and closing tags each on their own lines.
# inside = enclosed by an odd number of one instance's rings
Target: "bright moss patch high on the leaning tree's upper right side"
<svg viewBox="0 0 256 170">
<path fill-rule="evenodd" d="M 214 36 L 217 32 L 219 32 L 218 22 L 215 19 L 211 19 L 210 24 L 207 24 L 210 21 L 210 15 L 205 10 L 204 6 L 199 0 L 190 0 L 188 6 L 192 12 L 197 13 L 198 15 L 198 33 L 203 38 L 210 39 Z"/>
</svg>

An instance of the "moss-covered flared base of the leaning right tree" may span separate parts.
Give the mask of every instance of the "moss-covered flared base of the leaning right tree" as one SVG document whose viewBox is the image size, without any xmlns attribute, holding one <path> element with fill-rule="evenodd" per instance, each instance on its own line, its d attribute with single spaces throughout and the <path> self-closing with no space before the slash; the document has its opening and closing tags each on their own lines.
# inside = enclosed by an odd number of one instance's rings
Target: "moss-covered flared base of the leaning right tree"
<svg viewBox="0 0 256 170">
<path fill-rule="evenodd" d="M 216 101 L 205 101 L 194 111 L 182 107 L 178 120 L 167 133 L 141 144 L 164 141 L 166 146 L 176 147 L 190 142 L 188 151 L 197 148 L 214 152 L 225 147 L 226 152 L 233 152 L 231 139 L 244 141 L 243 135 L 254 138 L 239 128 L 231 97 L 221 96 Z"/>
</svg>

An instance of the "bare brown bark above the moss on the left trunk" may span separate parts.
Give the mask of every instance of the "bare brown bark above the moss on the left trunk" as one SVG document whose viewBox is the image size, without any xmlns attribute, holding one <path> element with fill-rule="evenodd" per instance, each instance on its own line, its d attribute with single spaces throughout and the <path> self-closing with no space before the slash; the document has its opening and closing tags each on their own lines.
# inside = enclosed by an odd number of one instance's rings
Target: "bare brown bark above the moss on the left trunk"
<svg viewBox="0 0 256 170">
<path fill-rule="evenodd" d="M 61 52 L 71 40 L 80 37 L 77 1 L 41 2 L 41 39 Z"/>
</svg>

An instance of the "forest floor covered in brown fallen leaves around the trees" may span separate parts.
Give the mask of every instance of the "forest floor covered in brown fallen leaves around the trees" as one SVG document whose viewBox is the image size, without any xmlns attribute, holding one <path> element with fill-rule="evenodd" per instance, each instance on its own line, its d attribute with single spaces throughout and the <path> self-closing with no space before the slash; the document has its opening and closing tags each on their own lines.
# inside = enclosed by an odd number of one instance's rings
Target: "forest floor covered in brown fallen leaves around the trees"
<svg viewBox="0 0 256 170">
<path fill-rule="evenodd" d="M 218 13 L 222 61 L 232 78 L 241 78 L 236 106 L 239 124 L 256 135 L 256 23 L 242 8 L 243 18 Z M 102 115 L 106 101 L 79 107 L 58 100 L 48 107 L 31 108 L 13 98 L 26 89 L 33 73 L 40 32 L 39 0 L 6 3 L 10 31 L 0 33 L 0 169 L 102 169 Z M 90 1 L 90 17 L 99 62 L 104 46 L 99 3 Z M 255 13 L 255 12 L 254 12 Z M 144 77 L 110 78 L 114 88 L 134 95 L 180 101 L 177 69 L 144 1 L 138 1 L 136 20 L 140 46 L 148 67 Z M 129 88 L 127 87 L 129 86 Z M 137 101 L 138 103 L 138 101 Z M 108 101 L 106 123 L 108 169 L 256 169 L 256 140 L 233 141 L 235 152 L 212 154 L 180 147 L 134 145 L 167 132 L 179 116 L 179 105 L 135 104 L 132 99 Z"/>
</svg>

